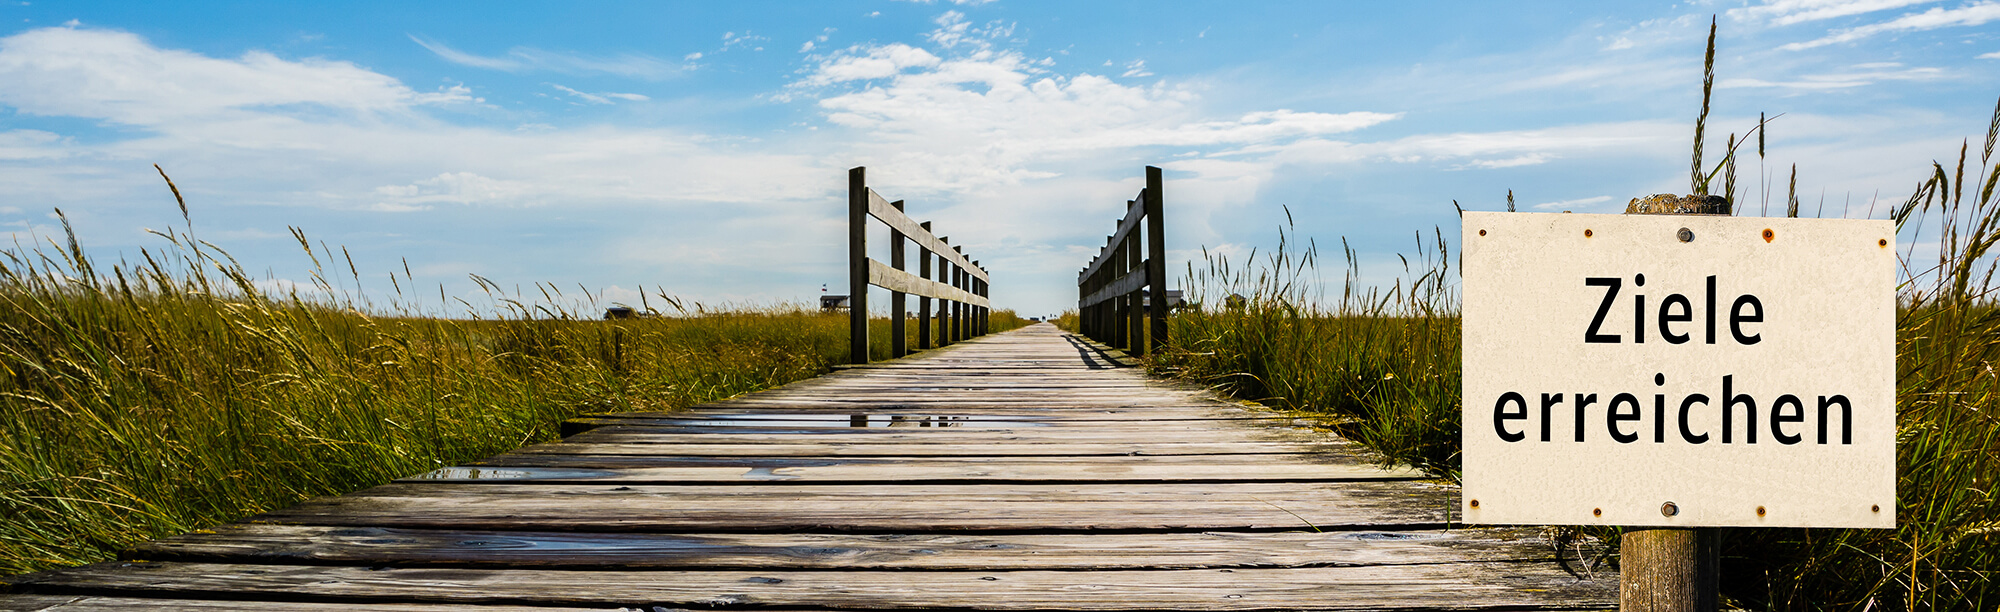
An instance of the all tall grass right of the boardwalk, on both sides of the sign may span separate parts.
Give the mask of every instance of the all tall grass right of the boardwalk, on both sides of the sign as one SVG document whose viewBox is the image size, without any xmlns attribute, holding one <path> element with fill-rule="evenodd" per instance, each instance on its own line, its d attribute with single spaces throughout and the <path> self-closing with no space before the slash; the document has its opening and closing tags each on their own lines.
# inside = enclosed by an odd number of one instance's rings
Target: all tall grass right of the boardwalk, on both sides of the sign
<svg viewBox="0 0 2000 612">
<path fill-rule="evenodd" d="M 1892 214 L 1912 244 L 1896 320 L 1896 530 L 1724 530 L 1724 594 L 1762 610 L 1994 610 L 2000 606 L 2000 110 L 1978 162 L 1934 164 Z M 1970 166 L 1970 168 L 1968 168 Z M 1968 178 L 1970 170 L 1970 182 Z M 1170 322 L 1162 374 L 1320 416 L 1386 462 L 1460 474 L 1460 318 L 1442 236 L 1404 274 L 1338 296 L 1318 250 L 1280 230 L 1274 252 L 1188 268 L 1194 308 Z M 1918 256 L 1914 244 L 1938 244 Z M 1242 296 L 1230 306 L 1228 296 Z M 1604 534 L 1608 536 L 1608 534 Z"/>
</svg>

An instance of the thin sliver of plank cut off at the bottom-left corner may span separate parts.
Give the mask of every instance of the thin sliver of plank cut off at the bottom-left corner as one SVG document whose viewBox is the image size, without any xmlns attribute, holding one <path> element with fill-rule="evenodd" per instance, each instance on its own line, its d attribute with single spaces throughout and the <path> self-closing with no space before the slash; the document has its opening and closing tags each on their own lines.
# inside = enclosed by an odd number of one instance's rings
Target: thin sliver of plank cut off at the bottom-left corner
<svg viewBox="0 0 2000 612">
<path fill-rule="evenodd" d="M 0 612 L 216 612 L 216 610 L 260 610 L 260 612 L 632 612 L 628 606 L 466 606 L 466 604 L 358 604 L 358 602 L 254 602 L 254 600 L 160 600 L 160 598 L 102 598 L 102 596 L 0 596 Z M 656 612 L 680 612 L 652 608 Z"/>
</svg>

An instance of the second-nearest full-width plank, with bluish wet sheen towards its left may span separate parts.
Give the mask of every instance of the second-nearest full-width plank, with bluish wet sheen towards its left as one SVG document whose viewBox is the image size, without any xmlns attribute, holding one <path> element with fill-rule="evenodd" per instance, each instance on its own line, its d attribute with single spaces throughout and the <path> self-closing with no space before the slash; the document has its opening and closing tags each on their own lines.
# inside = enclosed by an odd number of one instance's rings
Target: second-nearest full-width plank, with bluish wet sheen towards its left
<svg viewBox="0 0 2000 612">
<path fill-rule="evenodd" d="M 1530 530 L 1204 534 L 592 534 L 234 524 L 132 560 L 626 570 L 1168 570 L 1552 560 Z"/>
</svg>

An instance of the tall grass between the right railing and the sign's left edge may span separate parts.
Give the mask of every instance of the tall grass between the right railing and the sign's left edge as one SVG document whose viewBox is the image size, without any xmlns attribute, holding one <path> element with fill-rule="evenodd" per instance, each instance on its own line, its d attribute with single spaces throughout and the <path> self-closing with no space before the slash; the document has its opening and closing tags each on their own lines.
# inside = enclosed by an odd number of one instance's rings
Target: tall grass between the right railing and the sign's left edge
<svg viewBox="0 0 2000 612">
<path fill-rule="evenodd" d="M 1342 244 L 1340 296 L 1322 292 L 1318 246 L 1280 230 L 1246 262 L 1188 266 L 1190 308 L 1168 320 L 1156 372 L 1240 398 L 1318 414 L 1386 462 L 1458 474 L 1458 294 L 1442 234 L 1388 288 L 1364 286 Z M 1234 300 L 1232 300 L 1234 298 Z"/>
</svg>

